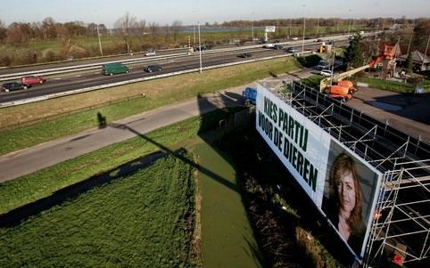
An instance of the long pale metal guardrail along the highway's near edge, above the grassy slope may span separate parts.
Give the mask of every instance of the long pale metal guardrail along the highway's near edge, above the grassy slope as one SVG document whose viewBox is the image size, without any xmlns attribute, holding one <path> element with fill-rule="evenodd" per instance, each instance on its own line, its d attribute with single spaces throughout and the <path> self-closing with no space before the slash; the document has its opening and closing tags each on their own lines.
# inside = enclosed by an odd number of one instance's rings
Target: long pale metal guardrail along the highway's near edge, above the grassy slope
<svg viewBox="0 0 430 268">
<path fill-rule="evenodd" d="M 303 53 L 295 53 L 295 55 L 305 54 L 305 53 L 310 53 L 310 51 L 303 52 Z M 273 60 L 273 59 L 277 59 L 277 58 L 284 58 L 284 57 L 288 57 L 288 56 L 292 56 L 292 55 L 293 55 L 293 53 L 286 53 L 283 55 L 264 57 L 264 58 L 260 58 L 260 59 L 229 62 L 229 63 L 223 63 L 223 64 L 218 64 L 218 65 L 203 67 L 202 70 L 218 69 L 218 68 L 223 68 L 223 67 L 228 67 L 228 66 L 240 65 L 240 64 L 244 64 L 244 63 L 257 62 L 257 61 L 267 61 L 267 60 Z M 136 78 L 136 79 L 131 79 L 131 80 L 127 80 L 127 81 L 121 81 L 121 82 L 106 84 L 106 85 L 89 86 L 89 87 L 84 87 L 81 89 L 71 90 L 68 92 L 47 94 L 47 95 L 40 96 L 40 97 L 23 99 L 20 101 L 3 102 L 3 103 L 0 103 L 0 108 L 18 106 L 18 105 L 22 105 L 22 104 L 31 103 L 31 102 L 41 102 L 41 101 L 59 98 L 59 97 L 63 97 L 63 96 L 68 96 L 68 95 L 73 95 L 73 94 L 77 94 L 77 93 L 86 93 L 86 92 L 100 90 L 103 88 L 109 88 L 109 87 L 113 87 L 113 86 L 128 85 L 128 84 L 133 84 L 133 83 L 138 83 L 138 82 L 144 82 L 147 80 L 159 79 L 159 78 L 163 78 L 163 77 L 173 77 L 173 76 L 178 76 L 178 75 L 183 75 L 183 74 L 193 73 L 193 72 L 198 72 L 198 71 L 200 71 L 200 68 L 186 69 L 186 70 L 171 72 L 168 74 L 155 75 L 155 76 L 151 76 L 151 77 Z"/>
</svg>

